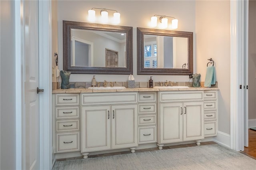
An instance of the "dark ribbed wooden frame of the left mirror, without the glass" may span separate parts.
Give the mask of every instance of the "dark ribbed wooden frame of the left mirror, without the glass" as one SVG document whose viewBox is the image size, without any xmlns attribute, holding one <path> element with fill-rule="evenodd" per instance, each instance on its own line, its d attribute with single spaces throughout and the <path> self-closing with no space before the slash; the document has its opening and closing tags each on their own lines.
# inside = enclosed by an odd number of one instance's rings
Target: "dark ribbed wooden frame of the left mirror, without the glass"
<svg viewBox="0 0 256 170">
<path fill-rule="evenodd" d="M 71 66 L 71 29 L 126 33 L 126 67 Z M 63 70 L 72 74 L 132 74 L 132 27 L 63 20 Z"/>
</svg>

